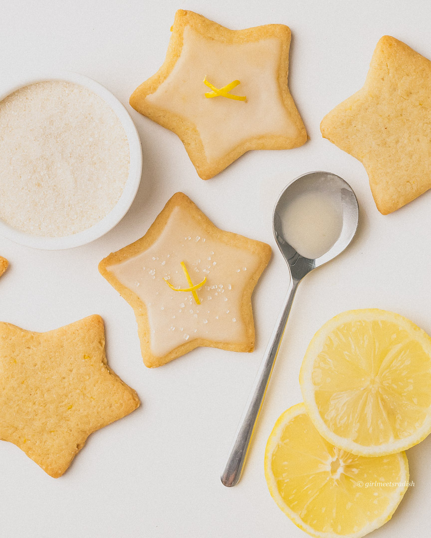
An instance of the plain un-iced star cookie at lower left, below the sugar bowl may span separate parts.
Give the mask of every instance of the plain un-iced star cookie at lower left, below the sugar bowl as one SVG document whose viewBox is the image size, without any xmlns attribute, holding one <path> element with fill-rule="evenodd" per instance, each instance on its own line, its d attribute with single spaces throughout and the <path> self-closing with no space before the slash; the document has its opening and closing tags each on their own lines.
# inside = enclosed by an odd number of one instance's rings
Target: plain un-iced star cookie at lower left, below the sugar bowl
<svg viewBox="0 0 431 538">
<path fill-rule="evenodd" d="M 100 316 L 31 332 L 0 323 L 0 438 L 54 478 L 95 430 L 140 405 L 106 364 Z"/>
</svg>

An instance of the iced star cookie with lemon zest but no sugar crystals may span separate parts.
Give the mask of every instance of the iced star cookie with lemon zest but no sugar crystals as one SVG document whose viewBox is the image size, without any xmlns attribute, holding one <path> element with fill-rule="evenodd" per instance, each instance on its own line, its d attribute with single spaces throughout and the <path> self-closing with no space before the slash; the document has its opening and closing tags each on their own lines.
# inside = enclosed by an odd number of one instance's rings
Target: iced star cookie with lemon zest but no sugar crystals
<svg viewBox="0 0 431 538">
<path fill-rule="evenodd" d="M 229 30 L 178 10 L 166 59 L 131 106 L 175 132 L 202 179 L 249 150 L 287 150 L 307 140 L 287 85 L 290 30 Z"/>
</svg>

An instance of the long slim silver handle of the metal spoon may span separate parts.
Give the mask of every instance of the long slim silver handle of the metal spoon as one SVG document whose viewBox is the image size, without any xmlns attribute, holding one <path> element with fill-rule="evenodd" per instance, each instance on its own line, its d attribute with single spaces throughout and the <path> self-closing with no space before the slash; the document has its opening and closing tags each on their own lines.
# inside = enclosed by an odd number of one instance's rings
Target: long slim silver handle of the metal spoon
<svg viewBox="0 0 431 538">
<path fill-rule="evenodd" d="M 260 363 L 258 373 L 256 374 L 252 390 L 250 391 L 246 406 L 242 412 L 237 431 L 235 432 L 229 457 L 227 458 L 225 469 L 221 474 L 221 482 L 227 487 L 235 486 L 241 478 L 253 430 L 256 421 L 258 420 L 263 399 L 265 398 L 269 378 L 271 377 L 275 359 L 279 352 L 281 339 L 283 337 L 284 329 L 286 329 L 287 318 L 289 317 L 290 308 L 298 284 L 299 281 L 293 279 L 290 280 L 289 291 L 286 295 L 286 299 L 284 299 L 283 307 L 275 323 L 274 330 L 269 339 L 262 362 Z"/>
</svg>

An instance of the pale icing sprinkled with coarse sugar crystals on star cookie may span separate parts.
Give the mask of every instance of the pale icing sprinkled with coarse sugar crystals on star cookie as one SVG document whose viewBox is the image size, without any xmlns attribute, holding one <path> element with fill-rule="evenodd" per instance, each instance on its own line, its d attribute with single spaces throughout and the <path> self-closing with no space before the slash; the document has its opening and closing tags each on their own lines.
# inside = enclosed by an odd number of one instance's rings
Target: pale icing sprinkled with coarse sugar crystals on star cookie
<svg viewBox="0 0 431 538">
<path fill-rule="evenodd" d="M 206 277 L 197 291 L 200 305 L 190 292 L 173 291 L 164 281 L 189 286 L 182 261 L 193 284 Z M 107 269 L 147 306 L 151 352 L 163 356 L 195 338 L 244 341 L 241 301 L 259 263 L 258 254 L 213 239 L 185 209 L 176 207 L 148 250 Z"/>
</svg>

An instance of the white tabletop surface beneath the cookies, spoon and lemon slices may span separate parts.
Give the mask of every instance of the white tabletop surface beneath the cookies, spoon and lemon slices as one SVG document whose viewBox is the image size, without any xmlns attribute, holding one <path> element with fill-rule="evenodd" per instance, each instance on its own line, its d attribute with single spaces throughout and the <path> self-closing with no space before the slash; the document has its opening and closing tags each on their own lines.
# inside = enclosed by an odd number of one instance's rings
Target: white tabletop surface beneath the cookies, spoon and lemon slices
<svg viewBox="0 0 431 538">
<path fill-rule="evenodd" d="M 174 134 L 130 109 L 130 93 L 164 60 L 178 8 L 232 29 L 290 26 L 289 86 L 310 136 L 307 144 L 250 152 L 204 182 Z M 42 252 L 0 238 L 0 254 L 11 263 L 0 280 L 1 320 L 46 331 L 101 314 L 108 362 L 142 400 L 136 412 L 93 434 L 57 480 L 14 445 L 1 443 L 2 537 L 305 536 L 270 497 L 263 454 L 277 417 L 301 401 L 298 372 L 310 338 L 333 315 L 368 307 L 394 310 L 431 333 L 431 193 L 381 216 L 362 165 L 323 140 L 319 122 L 362 86 L 384 34 L 431 58 L 430 20 L 427 1 L 3 0 L 0 85 L 38 67 L 93 77 L 130 110 L 141 134 L 144 168 L 129 213 L 93 244 Z M 244 476 L 226 489 L 219 475 L 288 287 L 272 235 L 273 205 L 287 182 L 315 169 L 341 175 L 356 191 L 358 235 L 298 289 Z M 140 356 L 133 310 L 97 266 L 109 252 L 141 237 L 177 190 L 221 228 L 270 243 L 274 255 L 254 294 L 253 353 L 201 348 L 149 370 Z M 415 486 L 373 536 L 429 536 L 430 454 L 431 438 L 408 451 Z"/>
</svg>

